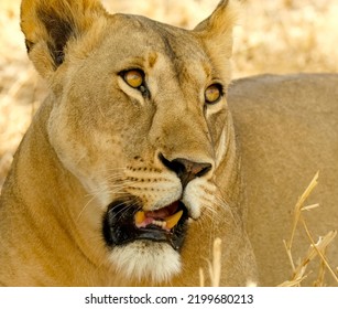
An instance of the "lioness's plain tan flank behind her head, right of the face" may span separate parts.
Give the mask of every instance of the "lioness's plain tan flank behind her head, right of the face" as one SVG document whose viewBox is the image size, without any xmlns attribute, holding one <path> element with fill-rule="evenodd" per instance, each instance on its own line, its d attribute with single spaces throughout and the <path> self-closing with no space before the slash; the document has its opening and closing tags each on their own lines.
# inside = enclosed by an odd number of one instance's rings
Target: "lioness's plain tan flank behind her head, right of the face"
<svg viewBox="0 0 338 309">
<path fill-rule="evenodd" d="M 283 245 L 288 241 L 298 196 L 319 171 L 305 213 L 315 241 L 338 230 L 338 75 L 264 75 L 233 82 L 228 102 L 239 135 L 249 209 L 248 233 L 257 256 L 260 284 L 275 286 L 292 277 Z M 302 224 L 293 246 L 295 262 L 309 239 Z M 338 241 L 328 246 L 338 266 Z M 319 262 L 307 269 L 312 285 Z M 313 271 L 313 273 L 312 273 Z M 324 283 L 335 285 L 326 270 Z"/>
</svg>

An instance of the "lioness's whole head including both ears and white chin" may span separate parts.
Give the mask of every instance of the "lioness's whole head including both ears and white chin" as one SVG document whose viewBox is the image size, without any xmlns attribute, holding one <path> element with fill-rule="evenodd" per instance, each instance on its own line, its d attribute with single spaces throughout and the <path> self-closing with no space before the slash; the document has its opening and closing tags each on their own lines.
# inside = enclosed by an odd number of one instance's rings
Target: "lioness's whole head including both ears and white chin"
<svg viewBox="0 0 338 309">
<path fill-rule="evenodd" d="M 100 238 L 123 276 L 168 280 L 207 257 L 220 226 L 241 213 L 229 210 L 240 179 L 226 100 L 232 2 L 194 30 L 108 14 L 96 0 L 22 3 L 29 56 L 51 88 L 48 113 L 36 117 L 55 177 L 67 195 L 80 185 L 78 199 L 89 196 L 59 207 L 83 224 L 75 238 Z"/>
</svg>

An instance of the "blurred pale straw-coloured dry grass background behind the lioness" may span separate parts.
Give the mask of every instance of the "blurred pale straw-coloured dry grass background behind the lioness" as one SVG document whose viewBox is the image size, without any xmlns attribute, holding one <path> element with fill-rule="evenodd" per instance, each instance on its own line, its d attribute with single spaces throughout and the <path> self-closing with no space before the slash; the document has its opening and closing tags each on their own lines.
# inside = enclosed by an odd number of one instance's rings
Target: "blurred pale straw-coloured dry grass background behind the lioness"
<svg viewBox="0 0 338 309">
<path fill-rule="evenodd" d="M 110 12 L 144 14 L 192 29 L 219 0 L 103 0 Z M 338 1 L 241 0 L 233 78 L 263 73 L 338 72 Z M 46 94 L 29 62 L 20 0 L 0 0 L 0 190 L 23 134 Z M 338 85 L 337 85 L 338 86 Z"/>
</svg>

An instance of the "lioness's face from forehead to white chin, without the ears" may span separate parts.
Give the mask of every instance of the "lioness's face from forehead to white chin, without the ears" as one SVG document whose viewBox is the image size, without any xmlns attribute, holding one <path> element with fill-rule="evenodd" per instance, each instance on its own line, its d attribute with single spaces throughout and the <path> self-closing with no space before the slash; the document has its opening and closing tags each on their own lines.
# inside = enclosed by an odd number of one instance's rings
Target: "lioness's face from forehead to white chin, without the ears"
<svg viewBox="0 0 338 309">
<path fill-rule="evenodd" d="M 178 273 L 189 225 L 214 207 L 231 53 L 221 10 L 194 31 L 101 13 L 48 73 L 50 142 L 96 201 L 109 259 L 138 279 Z"/>
</svg>

